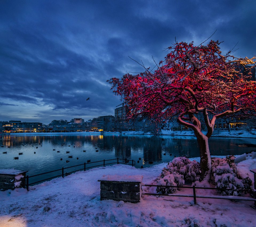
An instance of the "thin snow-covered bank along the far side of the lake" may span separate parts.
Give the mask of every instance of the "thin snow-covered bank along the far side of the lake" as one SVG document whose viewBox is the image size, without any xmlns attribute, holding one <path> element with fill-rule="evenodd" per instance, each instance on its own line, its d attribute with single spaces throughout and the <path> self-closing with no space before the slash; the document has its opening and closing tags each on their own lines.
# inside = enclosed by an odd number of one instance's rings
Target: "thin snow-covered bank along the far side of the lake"
<svg viewBox="0 0 256 227">
<path fill-rule="evenodd" d="M 206 132 L 204 132 L 206 133 Z M 254 132 L 255 133 L 255 132 Z M 2 135 L 153 135 L 152 133 L 143 133 L 142 131 L 125 131 L 125 132 L 27 132 L 27 133 L 2 133 Z M 256 134 L 256 133 L 255 133 Z M 193 131 L 165 131 L 161 132 L 161 136 L 195 136 Z M 211 137 L 237 137 L 237 138 L 252 138 L 256 139 L 256 135 L 246 131 L 214 131 Z"/>
</svg>

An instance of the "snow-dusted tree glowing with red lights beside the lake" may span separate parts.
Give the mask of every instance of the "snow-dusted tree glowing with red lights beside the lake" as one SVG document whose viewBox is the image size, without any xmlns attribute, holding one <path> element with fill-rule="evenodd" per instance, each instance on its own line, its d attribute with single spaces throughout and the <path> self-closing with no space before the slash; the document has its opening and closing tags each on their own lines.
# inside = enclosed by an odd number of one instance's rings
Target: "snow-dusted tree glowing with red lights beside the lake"
<svg viewBox="0 0 256 227">
<path fill-rule="evenodd" d="M 241 116 L 255 114 L 256 82 L 241 72 L 245 65 L 255 63 L 255 57 L 235 58 L 231 52 L 222 55 L 219 44 L 213 40 L 198 46 L 176 42 L 168 48 L 165 61 L 156 64 L 154 73 L 145 68 L 143 73 L 109 81 L 113 92 L 129 107 L 129 117 L 143 115 L 159 120 L 178 116 L 179 124 L 194 131 L 201 179 L 206 180 L 211 169 L 208 139 L 215 120 L 237 112 Z M 206 134 L 197 115 L 203 116 Z"/>
</svg>

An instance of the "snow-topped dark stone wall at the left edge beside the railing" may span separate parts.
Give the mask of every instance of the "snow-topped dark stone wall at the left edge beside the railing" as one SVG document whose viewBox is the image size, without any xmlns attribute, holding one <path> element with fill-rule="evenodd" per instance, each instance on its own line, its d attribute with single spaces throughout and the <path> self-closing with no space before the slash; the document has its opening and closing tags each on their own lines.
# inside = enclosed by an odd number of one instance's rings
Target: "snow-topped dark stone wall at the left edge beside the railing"
<svg viewBox="0 0 256 227">
<path fill-rule="evenodd" d="M 25 188 L 26 186 L 26 172 L 19 170 L 0 170 L 0 190 L 15 188 Z"/>
</svg>

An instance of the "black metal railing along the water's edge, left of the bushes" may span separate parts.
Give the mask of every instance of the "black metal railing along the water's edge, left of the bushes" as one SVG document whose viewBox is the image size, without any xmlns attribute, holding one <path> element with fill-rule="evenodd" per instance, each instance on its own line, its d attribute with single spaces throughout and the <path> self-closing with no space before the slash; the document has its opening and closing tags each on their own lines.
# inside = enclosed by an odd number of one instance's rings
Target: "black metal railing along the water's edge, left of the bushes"
<svg viewBox="0 0 256 227">
<path fill-rule="evenodd" d="M 112 162 L 112 161 L 115 161 L 115 162 Z M 91 164 L 93 164 L 93 163 L 97 163 L 97 165 L 92 166 Z M 100 164 L 100 163 L 102 163 L 102 164 Z M 104 166 L 105 167 L 107 165 L 112 165 L 112 164 L 125 164 L 125 165 L 135 166 L 135 161 L 134 160 L 128 160 L 128 159 L 120 159 L 120 158 L 104 159 L 102 161 L 87 162 L 87 163 L 84 162 L 83 164 L 80 164 L 80 165 L 69 166 L 69 167 L 65 167 L 65 168 L 62 167 L 61 169 L 58 169 L 58 170 L 52 170 L 52 171 L 49 171 L 49 172 L 40 173 L 40 174 L 36 174 L 36 175 L 33 175 L 33 176 L 28 176 L 27 175 L 26 176 L 26 188 L 27 188 L 27 191 L 29 191 L 29 186 L 30 185 L 34 185 L 34 184 L 37 184 L 39 182 L 43 182 L 43 181 L 50 180 L 50 179 L 60 177 L 60 176 L 62 176 L 62 178 L 64 178 L 64 176 L 70 175 L 71 173 L 75 173 L 77 171 L 81 171 L 81 170 L 85 171 L 85 170 L 88 170 L 88 169 L 91 169 L 91 168 L 95 168 L 95 167 L 99 167 L 99 166 Z M 74 167 L 78 167 L 78 168 L 83 167 L 83 168 L 82 169 L 76 169 L 76 170 L 64 173 L 65 172 L 64 170 L 74 168 Z M 38 181 L 30 183 L 30 179 L 33 178 L 33 177 L 42 176 L 44 174 L 54 173 L 54 172 L 58 172 L 58 171 L 59 171 L 59 173 L 61 171 L 61 174 L 58 174 L 56 176 L 51 176 L 51 177 L 46 178 L 46 179 L 40 179 Z"/>
</svg>

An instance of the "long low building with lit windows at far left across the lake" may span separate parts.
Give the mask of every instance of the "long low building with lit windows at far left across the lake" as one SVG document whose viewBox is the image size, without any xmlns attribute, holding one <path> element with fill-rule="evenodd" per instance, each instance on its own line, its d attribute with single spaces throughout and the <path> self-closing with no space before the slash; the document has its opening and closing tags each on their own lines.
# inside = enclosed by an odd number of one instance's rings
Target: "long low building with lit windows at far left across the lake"
<svg viewBox="0 0 256 227">
<path fill-rule="evenodd" d="M 2 123 L 3 132 L 42 132 L 43 123 L 11 120 Z"/>
</svg>

